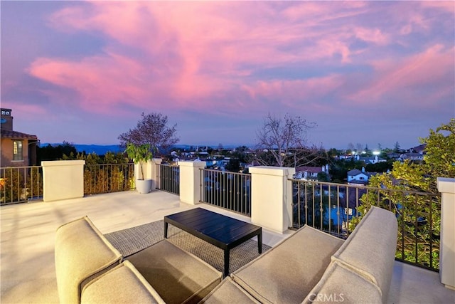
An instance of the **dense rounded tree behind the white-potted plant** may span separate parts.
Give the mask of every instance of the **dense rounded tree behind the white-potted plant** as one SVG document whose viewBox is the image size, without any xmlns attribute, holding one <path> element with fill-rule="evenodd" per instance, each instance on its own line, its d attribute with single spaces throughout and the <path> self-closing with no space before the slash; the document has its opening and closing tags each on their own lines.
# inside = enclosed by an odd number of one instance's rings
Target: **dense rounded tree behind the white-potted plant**
<svg viewBox="0 0 455 304">
<path fill-rule="evenodd" d="M 131 142 L 135 145 L 149 144 L 152 148 L 168 148 L 178 142 L 176 125 L 168 127 L 168 117 L 161 113 L 144 115 L 137 122 L 134 129 L 119 135 L 120 145 L 126 147 Z"/>
</svg>

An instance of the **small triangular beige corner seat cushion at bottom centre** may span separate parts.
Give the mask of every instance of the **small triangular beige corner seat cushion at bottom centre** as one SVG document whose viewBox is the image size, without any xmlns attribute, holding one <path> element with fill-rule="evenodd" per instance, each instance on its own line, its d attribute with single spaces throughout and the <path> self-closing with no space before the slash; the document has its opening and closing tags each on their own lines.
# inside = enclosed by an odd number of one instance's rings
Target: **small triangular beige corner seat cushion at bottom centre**
<svg viewBox="0 0 455 304">
<path fill-rule="evenodd" d="M 205 304 L 216 304 L 216 303 L 257 303 L 249 293 L 243 290 L 237 283 L 232 281 L 230 277 L 225 278 L 220 285 L 218 285 L 211 293 L 203 298 L 200 303 Z"/>
</svg>

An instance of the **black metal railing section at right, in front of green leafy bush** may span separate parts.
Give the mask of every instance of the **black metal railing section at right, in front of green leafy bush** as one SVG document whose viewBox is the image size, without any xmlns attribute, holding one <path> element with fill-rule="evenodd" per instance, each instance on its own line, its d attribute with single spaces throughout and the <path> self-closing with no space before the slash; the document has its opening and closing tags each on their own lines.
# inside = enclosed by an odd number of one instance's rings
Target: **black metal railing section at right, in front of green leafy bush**
<svg viewBox="0 0 455 304">
<path fill-rule="evenodd" d="M 366 206 L 380 206 L 397 216 L 397 260 L 439 269 L 440 194 L 291 181 L 295 229 L 308 224 L 346 239 Z"/>
</svg>

